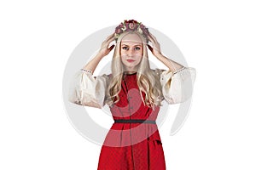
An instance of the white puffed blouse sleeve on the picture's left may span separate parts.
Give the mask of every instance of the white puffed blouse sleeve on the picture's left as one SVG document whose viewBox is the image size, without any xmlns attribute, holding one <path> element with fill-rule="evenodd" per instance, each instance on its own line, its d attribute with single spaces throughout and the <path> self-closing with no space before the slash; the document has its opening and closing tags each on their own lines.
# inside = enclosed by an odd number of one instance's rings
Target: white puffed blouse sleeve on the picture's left
<svg viewBox="0 0 256 170">
<path fill-rule="evenodd" d="M 93 77 L 87 71 L 78 71 L 70 83 L 68 100 L 74 104 L 102 108 L 105 105 L 109 76 Z"/>
</svg>

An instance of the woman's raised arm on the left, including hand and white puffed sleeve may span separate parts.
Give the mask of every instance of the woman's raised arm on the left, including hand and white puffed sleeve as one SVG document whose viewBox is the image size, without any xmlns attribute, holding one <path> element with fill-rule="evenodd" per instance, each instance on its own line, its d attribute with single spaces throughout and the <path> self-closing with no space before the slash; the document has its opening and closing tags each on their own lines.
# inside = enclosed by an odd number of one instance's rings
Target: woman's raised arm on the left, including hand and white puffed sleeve
<svg viewBox="0 0 256 170">
<path fill-rule="evenodd" d="M 108 87 L 108 75 L 93 77 L 93 71 L 101 59 L 109 54 L 114 46 L 108 48 L 113 41 L 113 35 L 102 42 L 102 48 L 90 62 L 84 65 L 84 70 L 78 71 L 70 82 L 69 101 L 78 104 L 96 108 L 102 108 L 105 105 L 105 94 Z"/>
</svg>

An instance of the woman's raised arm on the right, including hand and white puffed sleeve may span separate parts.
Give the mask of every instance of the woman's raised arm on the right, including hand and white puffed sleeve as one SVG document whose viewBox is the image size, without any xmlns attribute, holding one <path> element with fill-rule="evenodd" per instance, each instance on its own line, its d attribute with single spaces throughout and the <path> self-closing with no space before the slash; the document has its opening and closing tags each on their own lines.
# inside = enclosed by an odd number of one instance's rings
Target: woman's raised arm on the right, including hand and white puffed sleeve
<svg viewBox="0 0 256 170">
<path fill-rule="evenodd" d="M 169 68 L 169 71 L 160 71 L 159 74 L 162 93 L 167 103 L 177 104 L 189 99 L 195 82 L 195 69 L 184 67 L 162 55 L 160 44 L 152 34 L 149 33 L 148 39 L 153 45 L 148 46 L 152 54 Z"/>
</svg>

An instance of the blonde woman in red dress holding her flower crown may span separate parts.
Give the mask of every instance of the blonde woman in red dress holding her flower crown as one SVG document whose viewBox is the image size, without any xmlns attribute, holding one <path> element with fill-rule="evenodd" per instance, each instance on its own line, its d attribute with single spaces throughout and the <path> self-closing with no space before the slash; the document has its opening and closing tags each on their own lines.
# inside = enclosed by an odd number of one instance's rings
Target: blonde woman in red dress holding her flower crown
<svg viewBox="0 0 256 170">
<path fill-rule="evenodd" d="M 114 40 L 115 48 L 109 47 Z M 168 71 L 150 69 L 147 47 Z M 93 77 L 98 63 L 113 48 L 112 74 Z M 102 145 L 98 169 L 166 169 L 155 120 L 163 99 L 176 104 L 190 97 L 183 88 L 187 80 L 195 81 L 195 69 L 167 59 L 148 28 L 125 20 L 102 42 L 99 53 L 77 78 L 69 100 L 98 108 L 108 104 L 114 120 Z"/>
</svg>

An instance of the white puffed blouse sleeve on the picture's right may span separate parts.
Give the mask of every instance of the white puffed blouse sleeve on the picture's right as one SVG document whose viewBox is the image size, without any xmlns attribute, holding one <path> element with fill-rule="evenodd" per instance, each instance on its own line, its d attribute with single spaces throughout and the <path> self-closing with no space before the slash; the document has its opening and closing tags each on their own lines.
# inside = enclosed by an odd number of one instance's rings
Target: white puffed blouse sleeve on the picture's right
<svg viewBox="0 0 256 170">
<path fill-rule="evenodd" d="M 157 70 L 160 77 L 162 94 L 168 104 L 182 103 L 193 92 L 196 71 L 192 67 L 183 67 L 179 71 Z"/>
</svg>

